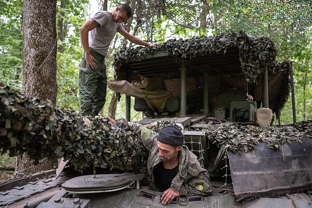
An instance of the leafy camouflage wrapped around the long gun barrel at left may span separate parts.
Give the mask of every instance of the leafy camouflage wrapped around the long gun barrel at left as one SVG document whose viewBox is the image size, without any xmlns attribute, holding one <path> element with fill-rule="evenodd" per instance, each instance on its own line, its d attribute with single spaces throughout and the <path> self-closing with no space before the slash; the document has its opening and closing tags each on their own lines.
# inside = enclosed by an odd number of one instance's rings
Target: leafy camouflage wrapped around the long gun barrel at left
<svg viewBox="0 0 312 208">
<path fill-rule="evenodd" d="M 0 154 L 26 152 L 70 159 L 76 170 L 87 167 L 144 172 L 147 154 L 138 135 L 104 117 L 85 117 L 0 88 Z"/>
</svg>

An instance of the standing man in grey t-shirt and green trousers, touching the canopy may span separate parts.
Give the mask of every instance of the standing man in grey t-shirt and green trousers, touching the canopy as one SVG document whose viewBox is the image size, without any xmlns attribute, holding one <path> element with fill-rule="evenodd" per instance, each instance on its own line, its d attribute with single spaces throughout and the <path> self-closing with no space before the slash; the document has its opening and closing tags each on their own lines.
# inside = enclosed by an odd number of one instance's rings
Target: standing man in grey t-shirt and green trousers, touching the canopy
<svg viewBox="0 0 312 208">
<path fill-rule="evenodd" d="M 130 6 L 121 4 L 113 12 L 98 12 L 79 28 L 84 48 L 79 73 L 82 115 L 98 115 L 105 104 L 107 77 L 104 59 L 117 32 L 132 43 L 153 46 L 123 29 L 120 23 L 128 21 L 131 15 Z"/>
</svg>

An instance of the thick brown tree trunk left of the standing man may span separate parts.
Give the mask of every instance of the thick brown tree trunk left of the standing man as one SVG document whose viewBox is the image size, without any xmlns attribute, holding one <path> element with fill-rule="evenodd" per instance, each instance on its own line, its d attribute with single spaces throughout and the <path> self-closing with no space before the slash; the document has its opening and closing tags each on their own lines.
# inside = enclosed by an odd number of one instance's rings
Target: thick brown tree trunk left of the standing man
<svg viewBox="0 0 312 208">
<path fill-rule="evenodd" d="M 56 102 L 56 0 L 25 0 L 23 14 L 23 87 L 25 96 Z M 16 172 L 32 174 L 54 167 L 44 160 L 33 166 L 26 155 L 17 158 Z"/>
</svg>

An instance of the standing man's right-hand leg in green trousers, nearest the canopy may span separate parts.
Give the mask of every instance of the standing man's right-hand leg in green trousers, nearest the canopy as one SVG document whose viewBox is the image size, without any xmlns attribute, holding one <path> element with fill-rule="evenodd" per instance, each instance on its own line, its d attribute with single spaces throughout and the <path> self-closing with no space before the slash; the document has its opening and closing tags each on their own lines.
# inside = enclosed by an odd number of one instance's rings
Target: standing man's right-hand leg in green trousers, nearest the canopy
<svg viewBox="0 0 312 208">
<path fill-rule="evenodd" d="M 95 103 L 93 106 L 93 114 L 98 115 L 101 109 L 103 108 L 105 101 L 106 101 L 106 91 L 107 91 L 107 76 L 106 76 L 106 65 L 105 65 L 105 58 L 102 59 L 100 62 L 101 68 L 99 68 L 99 80 L 96 89 L 96 97 Z"/>
</svg>

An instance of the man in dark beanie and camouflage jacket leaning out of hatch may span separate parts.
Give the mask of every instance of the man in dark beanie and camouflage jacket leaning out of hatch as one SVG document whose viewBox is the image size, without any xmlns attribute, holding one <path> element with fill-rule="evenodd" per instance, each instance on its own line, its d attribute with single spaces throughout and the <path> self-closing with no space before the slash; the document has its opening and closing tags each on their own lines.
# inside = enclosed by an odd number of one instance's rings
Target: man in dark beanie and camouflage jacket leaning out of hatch
<svg viewBox="0 0 312 208">
<path fill-rule="evenodd" d="M 206 169 L 202 168 L 197 156 L 188 150 L 184 135 L 176 126 L 164 127 L 157 134 L 141 124 L 124 119 L 110 121 L 125 129 L 140 133 L 142 142 L 149 151 L 147 159 L 147 180 L 152 188 L 162 191 L 162 203 L 170 203 L 179 195 L 212 192 L 212 185 Z"/>
</svg>

